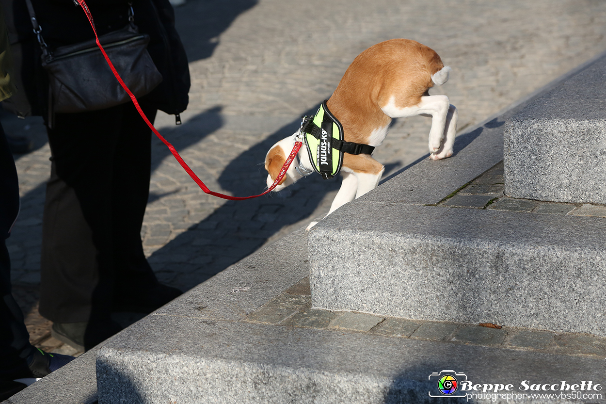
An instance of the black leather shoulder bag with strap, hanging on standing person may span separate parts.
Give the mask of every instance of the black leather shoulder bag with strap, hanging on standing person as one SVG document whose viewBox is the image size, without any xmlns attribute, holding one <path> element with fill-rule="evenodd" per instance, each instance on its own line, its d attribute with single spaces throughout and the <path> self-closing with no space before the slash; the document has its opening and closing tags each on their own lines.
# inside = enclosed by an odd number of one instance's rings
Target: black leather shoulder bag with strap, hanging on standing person
<svg viewBox="0 0 606 404">
<path fill-rule="evenodd" d="M 26 2 L 42 50 L 42 67 L 48 72 L 48 126 L 52 127 L 54 113 L 94 111 L 130 102 L 95 39 L 51 51 L 42 38 L 32 2 Z M 99 42 L 125 84 L 139 97 L 155 89 L 162 75 L 147 52 L 149 36 L 138 32 L 132 7 L 128 19 L 126 27 L 99 36 Z"/>
</svg>

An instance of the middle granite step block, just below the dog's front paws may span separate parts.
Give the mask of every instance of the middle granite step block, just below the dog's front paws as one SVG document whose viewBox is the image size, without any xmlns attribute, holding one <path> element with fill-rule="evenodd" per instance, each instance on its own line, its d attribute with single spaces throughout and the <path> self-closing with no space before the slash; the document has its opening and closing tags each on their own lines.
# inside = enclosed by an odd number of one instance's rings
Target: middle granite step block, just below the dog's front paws
<svg viewBox="0 0 606 404">
<path fill-rule="evenodd" d="M 314 307 L 606 335 L 603 218 L 344 208 L 309 233 Z"/>
</svg>

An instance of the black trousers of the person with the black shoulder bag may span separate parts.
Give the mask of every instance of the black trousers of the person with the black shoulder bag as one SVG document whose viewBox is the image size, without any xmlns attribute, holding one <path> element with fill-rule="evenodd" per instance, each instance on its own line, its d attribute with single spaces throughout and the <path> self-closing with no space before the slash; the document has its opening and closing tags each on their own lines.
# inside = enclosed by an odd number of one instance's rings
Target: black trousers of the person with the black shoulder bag
<svg viewBox="0 0 606 404">
<path fill-rule="evenodd" d="M 156 110 L 144 112 L 153 122 Z M 156 283 L 141 244 L 151 130 L 128 103 L 56 114 L 47 132 L 39 311 L 59 323 L 107 318 L 115 294 Z"/>
</svg>

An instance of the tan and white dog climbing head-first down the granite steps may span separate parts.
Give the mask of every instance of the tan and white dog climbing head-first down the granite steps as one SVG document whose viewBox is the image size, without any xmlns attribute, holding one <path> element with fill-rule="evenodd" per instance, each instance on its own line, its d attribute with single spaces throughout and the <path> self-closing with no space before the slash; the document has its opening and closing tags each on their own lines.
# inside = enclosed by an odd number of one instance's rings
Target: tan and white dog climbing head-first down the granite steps
<svg viewBox="0 0 606 404">
<path fill-rule="evenodd" d="M 387 135 L 392 118 L 431 116 L 430 158 L 439 160 L 453 153 L 457 109 L 445 95 L 429 95 L 434 84 L 448 80 L 450 67 L 444 66 L 434 50 L 410 39 L 390 39 L 360 53 L 348 67 L 327 106 L 344 130 L 344 140 L 379 146 Z M 295 145 L 297 133 L 271 147 L 265 157 L 267 186 L 271 186 Z M 301 148 L 299 164 L 313 170 L 308 153 Z M 298 164 L 275 188 L 284 189 L 302 177 Z M 370 155 L 343 156 L 341 189 L 328 215 L 343 204 L 375 189 L 384 167 Z M 307 229 L 317 222 L 312 222 Z"/>
</svg>

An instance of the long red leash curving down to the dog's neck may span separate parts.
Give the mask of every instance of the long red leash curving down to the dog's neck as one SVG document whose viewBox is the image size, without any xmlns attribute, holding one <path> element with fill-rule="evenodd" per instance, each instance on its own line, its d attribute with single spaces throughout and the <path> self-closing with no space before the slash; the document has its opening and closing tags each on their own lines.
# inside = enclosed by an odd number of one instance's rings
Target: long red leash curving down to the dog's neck
<svg viewBox="0 0 606 404">
<path fill-rule="evenodd" d="M 160 132 L 158 132 L 158 130 L 156 130 L 156 128 L 153 126 L 153 124 L 151 124 L 151 122 L 147 119 L 147 116 L 145 116 L 145 113 L 143 113 L 143 110 L 139 106 L 139 102 L 135 98 L 135 95 L 133 95 L 133 93 L 130 92 L 130 90 L 128 89 L 126 84 L 124 84 L 124 81 L 122 81 L 122 78 L 116 71 L 116 68 L 113 66 L 112 61 L 110 61 L 110 58 L 107 57 L 107 53 L 105 53 L 105 50 L 101 46 L 101 42 L 99 42 L 99 36 L 97 36 L 97 30 L 95 29 L 95 22 L 93 22 L 93 16 L 90 13 L 90 10 L 88 10 L 88 5 L 86 4 L 86 2 L 84 0 L 76 0 L 76 1 L 78 1 L 78 4 L 80 5 L 80 7 L 82 7 L 82 10 L 84 10 L 84 13 L 86 13 L 88 22 L 90 22 L 90 26 L 93 28 L 93 32 L 95 32 L 97 46 L 99 47 L 99 49 L 101 49 L 101 52 L 103 53 L 103 56 L 105 57 L 105 60 L 107 61 L 107 64 L 110 66 L 110 69 L 112 69 L 114 76 L 116 76 L 116 79 L 118 79 L 122 88 L 128 93 L 128 96 L 130 96 L 130 99 L 133 100 L 133 104 L 135 104 L 135 107 L 139 111 L 139 115 L 141 115 L 141 118 L 143 118 L 143 120 L 145 121 L 147 126 L 150 127 L 151 131 L 153 133 L 155 133 L 156 136 L 158 136 L 158 138 L 162 141 L 162 143 L 164 143 L 168 147 L 168 150 L 170 150 L 170 152 L 173 153 L 173 156 L 175 156 L 177 161 L 179 161 L 179 164 L 181 164 L 181 167 L 183 167 L 183 169 L 189 174 L 189 176 L 191 177 L 192 180 L 196 181 L 196 184 L 198 184 L 198 186 L 205 192 L 205 194 L 213 195 L 215 197 L 228 199 L 228 200 L 232 200 L 232 201 L 242 201 L 245 199 L 261 197 L 261 195 L 265 195 L 268 192 L 271 192 L 271 190 L 273 190 L 276 186 L 278 186 L 280 181 L 282 181 L 282 178 L 284 178 L 284 175 L 286 175 L 286 171 L 288 170 L 288 167 L 290 167 L 290 164 L 293 162 L 293 160 L 295 160 L 295 156 L 299 152 L 299 149 L 301 149 L 301 146 L 302 146 L 301 141 L 295 142 L 295 147 L 293 147 L 293 151 L 290 152 L 290 155 L 286 159 L 284 166 L 282 166 L 282 169 L 280 170 L 278 177 L 276 178 L 275 181 L 273 181 L 273 184 L 271 184 L 271 186 L 267 190 L 265 190 L 265 192 L 263 192 L 262 194 L 252 195 L 251 197 L 231 197 L 230 195 L 220 194 L 219 192 L 211 191 L 210 189 L 208 189 L 208 187 L 204 185 L 202 180 L 200 180 L 200 178 L 198 178 L 198 175 L 196 175 L 196 173 L 190 169 L 190 167 L 187 165 L 187 163 L 185 163 L 185 161 L 183 161 L 183 159 L 181 158 L 181 156 L 179 155 L 177 150 L 175 150 L 175 147 L 172 144 L 170 144 L 164 138 L 164 136 L 162 136 L 160 134 Z"/>
</svg>

